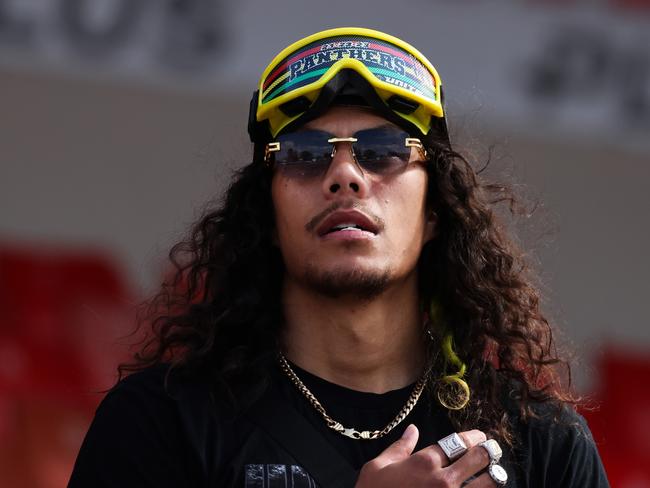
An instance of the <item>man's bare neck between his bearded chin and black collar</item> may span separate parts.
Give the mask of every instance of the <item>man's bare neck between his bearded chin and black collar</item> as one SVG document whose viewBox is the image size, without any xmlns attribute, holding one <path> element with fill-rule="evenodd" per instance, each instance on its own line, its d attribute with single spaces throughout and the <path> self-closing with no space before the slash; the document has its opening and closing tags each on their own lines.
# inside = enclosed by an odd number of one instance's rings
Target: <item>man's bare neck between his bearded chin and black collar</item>
<svg viewBox="0 0 650 488">
<path fill-rule="evenodd" d="M 288 282 L 284 353 L 302 369 L 358 391 L 384 393 L 422 374 L 424 342 L 417 286 L 373 300 L 332 299 Z"/>
</svg>

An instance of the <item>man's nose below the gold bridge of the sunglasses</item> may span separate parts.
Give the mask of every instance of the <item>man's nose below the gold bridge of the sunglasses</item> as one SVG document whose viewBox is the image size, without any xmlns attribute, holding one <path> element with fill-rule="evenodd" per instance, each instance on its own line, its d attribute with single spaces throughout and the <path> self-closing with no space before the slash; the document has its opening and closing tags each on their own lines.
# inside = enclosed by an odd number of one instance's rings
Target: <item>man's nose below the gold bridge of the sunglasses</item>
<svg viewBox="0 0 650 488">
<path fill-rule="evenodd" d="M 352 145 L 336 143 L 332 161 L 323 179 L 323 191 L 330 197 L 335 194 L 349 193 L 363 198 L 368 191 L 366 176 L 354 158 Z"/>
</svg>

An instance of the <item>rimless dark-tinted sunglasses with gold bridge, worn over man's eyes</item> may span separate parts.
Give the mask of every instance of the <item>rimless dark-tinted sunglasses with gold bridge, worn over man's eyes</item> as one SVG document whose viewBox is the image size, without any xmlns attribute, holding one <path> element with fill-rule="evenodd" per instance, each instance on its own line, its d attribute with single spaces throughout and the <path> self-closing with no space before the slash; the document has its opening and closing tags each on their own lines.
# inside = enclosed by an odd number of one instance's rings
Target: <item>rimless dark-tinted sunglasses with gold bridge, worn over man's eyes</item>
<svg viewBox="0 0 650 488">
<path fill-rule="evenodd" d="M 266 145 L 264 160 L 287 176 L 316 178 L 327 172 L 339 143 L 349 143 L 357 165 L 374 175 L 398 173 L 410 162 L 427 157 L 420 139 L 394 127 L 376 127 L 352 137 L 334 137 L 322 130 L 282 134 Z"/>
</svg>

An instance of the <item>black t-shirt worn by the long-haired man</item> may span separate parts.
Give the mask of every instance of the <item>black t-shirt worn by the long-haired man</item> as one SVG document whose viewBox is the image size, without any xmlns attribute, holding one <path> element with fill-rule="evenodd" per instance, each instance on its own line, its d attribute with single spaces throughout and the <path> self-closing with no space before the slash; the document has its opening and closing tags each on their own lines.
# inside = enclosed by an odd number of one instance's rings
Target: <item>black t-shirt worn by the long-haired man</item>
<svg viewBox="0 0 650 488">
<path fill-rule="evenodd" d="M 292 486 L 311 488 L 310 473 L 272 436 L 215 399 L 206 381 L 165 385 L 157 367 L 122 380 L 104 398 L 79 452 L 69 488 L 171 488 Z M 384 394 L 363 393 L 329 383 L 296 368 L 328 414 L 346 427 L 381 429 L 405 404 L 412 386 Z M 322 416 L 277 368 L 275 388 L 353 468 L 359 469 L 396 441 L 410 423 L 420 437 L 416 450 L 454 432 L 444 411 L 420 399 L 393 431 L 376 440 L 354 440 L 329 429 Z M 500 464 L 509 488 L 609 487 L 584 419 L 566 409 L 562 423 L 549 409 L 540 418 L 518 422 L 517 445 Z"/>
</svg>

